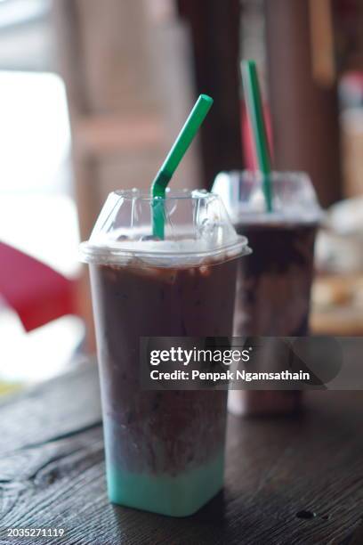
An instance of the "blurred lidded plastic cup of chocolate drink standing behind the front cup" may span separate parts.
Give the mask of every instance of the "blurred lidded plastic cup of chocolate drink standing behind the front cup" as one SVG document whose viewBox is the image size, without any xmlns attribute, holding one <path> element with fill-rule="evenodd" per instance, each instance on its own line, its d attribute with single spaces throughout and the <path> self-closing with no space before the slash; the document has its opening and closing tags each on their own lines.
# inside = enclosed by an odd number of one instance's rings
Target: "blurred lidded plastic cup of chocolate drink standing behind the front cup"
<svg viewBox="0 0 363 545">
<path fill-rule="evenodd" d="M 238 264 L 233 334 L 294 337 L 309 331 L 314 240 L 321 209 L 308 175 L 271 175 L 273 212 L 265 210 L 262 178 L 251 172 L 221 173 L 214 181 L 252 255 Z M 235 414 L 281 414 L 299 409 L 298 391 L 230 391 Z"/>
</svg>

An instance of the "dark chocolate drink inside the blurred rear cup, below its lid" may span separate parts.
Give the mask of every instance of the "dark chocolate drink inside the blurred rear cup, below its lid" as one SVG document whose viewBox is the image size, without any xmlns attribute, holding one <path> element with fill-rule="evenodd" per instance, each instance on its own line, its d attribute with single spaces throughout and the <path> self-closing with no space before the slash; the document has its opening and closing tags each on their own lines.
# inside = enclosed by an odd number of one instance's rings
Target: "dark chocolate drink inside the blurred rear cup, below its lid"
<svg viewBox="0 0 363 545">
<path fill-rule="evenodd" d="M 316 223 L 235 224 L 253 248 L 238 263 L 235 336 L 308 334 Z M 246 414 L 299 408 L 300 391 L 230 392 L 229 407 Z"/>
</svg>

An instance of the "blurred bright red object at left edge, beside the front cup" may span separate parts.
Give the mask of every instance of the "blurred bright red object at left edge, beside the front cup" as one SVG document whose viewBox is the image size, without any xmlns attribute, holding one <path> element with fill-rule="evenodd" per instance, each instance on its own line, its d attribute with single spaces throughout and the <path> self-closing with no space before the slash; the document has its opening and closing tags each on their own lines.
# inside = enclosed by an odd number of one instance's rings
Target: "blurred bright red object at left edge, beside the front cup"
<svg viewBox="0 0 363 545">
<path fill-rule="evenodd" d="M 27 331 L 66 314 L 75 314 L 76 281 L 0 242 L 0 296 L 19 315 Z"/>
</svg>

